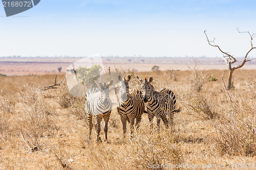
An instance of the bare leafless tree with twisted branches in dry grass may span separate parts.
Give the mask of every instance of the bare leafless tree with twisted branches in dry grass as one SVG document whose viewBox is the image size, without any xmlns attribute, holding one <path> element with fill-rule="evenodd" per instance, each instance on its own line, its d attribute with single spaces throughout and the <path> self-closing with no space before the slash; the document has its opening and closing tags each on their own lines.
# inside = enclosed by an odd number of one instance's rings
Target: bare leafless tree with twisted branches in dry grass
<svg viewBox="0 0 256 170">
<path fill-rule="evenodd" d="M 207 34 L 206 34 L 206 31 L 204 31 L 204 34 L 205 34 L 205 36 L 206 36 L 206 38 L 207 38 L 207 41 L 208 41 L 209 45 L 218 47 L 219 50 L 221 51 L 221 53 L 223 53 L 223 59 L 225 60 L 227 66 L 228 66 L 228 68 L 229 68 L 229 77 L 228 77 L 228 81 L 227 81 L 227 89 L 228 89 L 228 90 L 230 90 L 230 88 L 231 88 L 231 80 L 232 80 L 233 71 L 236 70 L 236 69 L 238 69 L 238 68 L 241 68 L 242 66 L 244 66 L 244 64 L 245 64 L 247 61 L 252 60 L 252 59 L 248 59 L 247 57 L 248 57 L 248 54 L 249 54 L 254 48 L 256 48 L 256 47 L 253 47 L 253 44 L 252 44 L 252 40 L 253 40 L 253 38 L 256 36 L 254 33 L 250 33 L 249 31 L 240 32 L 239 29 L 237 29 L 237 30 L 238 30 L 239 33 L 248 33 L 248 34 L 249 34 L 249 36 L 250 36 L 251 48 L 250 48 L 250 50 L 246 53 L 243 62 L 242 62 L 240 65 L 233 66 L 233 67 L 232 67 L 232 64 L 235 63 L 235 62 L 237 62 L 236 58 L 234 58 L 233 55 L 228 54 L 228 52 L 223 52 L 223 51 L 221 50 L 221 48 L 219 47 L 219 45 L 215 45 L 215 42 L 214 42 L 215 38 L 214 38 L 213 41 L 209 41 L 209 39 L 208 39 L 208 37 L 207 37 Z"/>
</svg>

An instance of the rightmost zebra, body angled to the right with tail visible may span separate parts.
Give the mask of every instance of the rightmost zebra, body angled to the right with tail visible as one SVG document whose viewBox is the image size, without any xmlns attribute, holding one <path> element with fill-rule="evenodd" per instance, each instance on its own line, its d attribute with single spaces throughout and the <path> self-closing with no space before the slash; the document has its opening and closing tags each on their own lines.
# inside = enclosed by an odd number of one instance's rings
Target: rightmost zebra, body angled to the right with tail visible
<svg viewBox="0 0 256 170">
<path fill-rule="evenodd" d="M 137 79 L 142 84 L 142 96 L 145 102 L 145 112 L 148 113 L 148 119 L 150 120 L 151 128 L 153 126 L 153 118 L 157 118 L 157 128 L 160 127 L 160 121 L 163 120 L 164 125 L 168 128 L 168 119 L 166 115 L 169 116 L 173 124 L 173 116 L 175 112 L 180 110 L 175 110 L 176 98 L 172 90 L 163 88 L 160 91 L 156 91 L 154 86 L 151 84 L 153 77 L 150 79 L 141 80 L 138 76 Z"/>
</svg>

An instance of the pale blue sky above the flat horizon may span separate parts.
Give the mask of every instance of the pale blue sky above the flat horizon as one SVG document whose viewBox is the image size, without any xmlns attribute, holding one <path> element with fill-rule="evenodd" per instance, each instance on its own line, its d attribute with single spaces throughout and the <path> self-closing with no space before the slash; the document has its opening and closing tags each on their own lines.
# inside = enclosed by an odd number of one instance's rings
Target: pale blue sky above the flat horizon
<svg viewBox="0 0 256 170">
<path fill-rule="evenodd" d="M 242 57 L 250 42 L 237 28 L 256 32 L 255 7 L 253 0 L 41 0 L 11 17 L 0 7 L 0 56 L 222 57 L 207 30 Z"/>
</svg>

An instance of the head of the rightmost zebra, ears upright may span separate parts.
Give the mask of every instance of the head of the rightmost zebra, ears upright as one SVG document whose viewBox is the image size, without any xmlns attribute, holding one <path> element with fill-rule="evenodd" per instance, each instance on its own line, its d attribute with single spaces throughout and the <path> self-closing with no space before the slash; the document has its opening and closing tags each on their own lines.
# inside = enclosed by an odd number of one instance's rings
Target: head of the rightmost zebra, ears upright
<svg viewBox="0 0 256 170">
<path fill-rule="evenodd" d="M 150 79 L 141 80 L 138 76 L 137 79 L 141 83 L 141 90 L 142 90 L 142 98 L 145 103 L 148 102 L 148 99 L 151 99 L 151 93 L 154 91 L 154 87 L 150 84 L 153 81 L 153 77 Z"/>
</svg>

